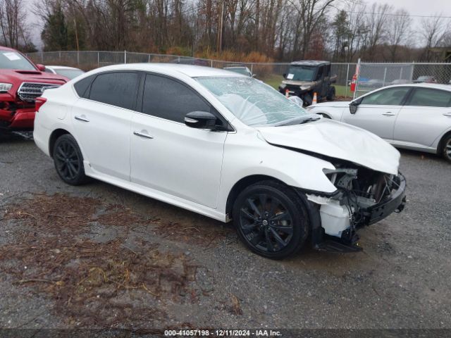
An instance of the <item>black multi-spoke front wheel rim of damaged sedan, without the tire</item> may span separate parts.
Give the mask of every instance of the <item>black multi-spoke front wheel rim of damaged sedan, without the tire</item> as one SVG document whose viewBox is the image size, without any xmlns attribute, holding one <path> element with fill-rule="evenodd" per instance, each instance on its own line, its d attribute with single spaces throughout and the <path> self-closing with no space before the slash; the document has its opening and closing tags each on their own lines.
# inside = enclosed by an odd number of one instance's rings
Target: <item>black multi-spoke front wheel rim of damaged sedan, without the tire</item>
<svg viewBox="0 0 451 338">
<path fill-rule="evenodd" d="M 254 194 L 240 208 L 240 230 L 255 248 L 277 252 L 290 244 L 293 235 L 292 215 L 276 197 Z"/>
</svg>

